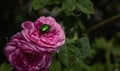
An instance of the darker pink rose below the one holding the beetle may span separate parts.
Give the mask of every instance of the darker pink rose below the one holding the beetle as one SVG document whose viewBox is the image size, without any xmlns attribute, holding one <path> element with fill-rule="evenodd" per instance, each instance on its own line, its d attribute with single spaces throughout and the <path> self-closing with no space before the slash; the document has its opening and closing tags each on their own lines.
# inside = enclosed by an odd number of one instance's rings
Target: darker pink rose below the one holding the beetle
<svg viewBox="0 0 120 71">
<path fill-rule="evenodd" d="M 24 40 L 20 33 L 14 35 L 4 51 L 17 71 L 47 71 L 51 64 L 51 53 L 43 52 Z"/>
</svg>

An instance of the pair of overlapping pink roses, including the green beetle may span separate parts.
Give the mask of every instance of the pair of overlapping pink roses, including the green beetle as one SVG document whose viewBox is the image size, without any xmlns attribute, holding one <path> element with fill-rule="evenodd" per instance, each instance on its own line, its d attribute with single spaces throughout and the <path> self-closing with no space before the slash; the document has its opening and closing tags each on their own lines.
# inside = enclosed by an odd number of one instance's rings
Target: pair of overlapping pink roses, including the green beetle
<svg viewBox="0 0 120 71">
<path fill-rule="evenodd" d="M 65 43 L 65 34 L 52 17 L 41 16 L 35 22 L 22 23 L 5 47 L 5 54 L 17 71 L 47 71 L 52 53 Z"/>
</svg>

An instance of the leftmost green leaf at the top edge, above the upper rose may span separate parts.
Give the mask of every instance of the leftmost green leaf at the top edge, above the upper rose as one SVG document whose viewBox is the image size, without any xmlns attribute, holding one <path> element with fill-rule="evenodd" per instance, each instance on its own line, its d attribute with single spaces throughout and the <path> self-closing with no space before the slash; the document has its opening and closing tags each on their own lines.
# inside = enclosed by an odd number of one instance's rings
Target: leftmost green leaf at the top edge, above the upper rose
<svg viewBox="0 0 120 71">
<path fill-rule="evenodd" d="M 33 0 L 32 7 L 34 10 L 39 10 L 49 3 L 49 0 Z"/>
</svg>

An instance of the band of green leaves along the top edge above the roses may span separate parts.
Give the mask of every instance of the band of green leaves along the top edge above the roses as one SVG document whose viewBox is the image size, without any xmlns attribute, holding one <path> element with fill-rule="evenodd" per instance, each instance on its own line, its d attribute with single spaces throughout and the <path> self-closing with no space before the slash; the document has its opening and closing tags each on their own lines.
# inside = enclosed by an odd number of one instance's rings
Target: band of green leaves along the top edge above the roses
<svg viewBox="0 0 120 71">
<path fill-rule="evenodd" d="M 94 12 L 93 4 L 90 0 L 33 0 L 32 6 L 34 10 L 52 6 L 52 12 L 56 12 L 56 15 L 62 12 L 65 12 L 67 15 L 76 15 L 74 11 L 78 11 L 78 15 L 81 14 L 81 12 L 89 15 Z"/>
</svg>

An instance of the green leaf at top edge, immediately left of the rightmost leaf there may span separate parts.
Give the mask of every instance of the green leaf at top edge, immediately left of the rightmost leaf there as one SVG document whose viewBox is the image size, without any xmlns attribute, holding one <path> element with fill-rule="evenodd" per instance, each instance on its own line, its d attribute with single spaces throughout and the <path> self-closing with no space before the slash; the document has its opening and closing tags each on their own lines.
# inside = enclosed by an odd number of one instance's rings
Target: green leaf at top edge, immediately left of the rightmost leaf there
<svg viewBox="0 0 120 71">
<path fill-rule="evenodd" d="M 76 6 L 75 6 L 75 0 L 65 0 L 62 4 L 62 9 L 64 11 L 74 11 Z"/>
</svg>

